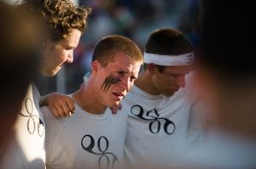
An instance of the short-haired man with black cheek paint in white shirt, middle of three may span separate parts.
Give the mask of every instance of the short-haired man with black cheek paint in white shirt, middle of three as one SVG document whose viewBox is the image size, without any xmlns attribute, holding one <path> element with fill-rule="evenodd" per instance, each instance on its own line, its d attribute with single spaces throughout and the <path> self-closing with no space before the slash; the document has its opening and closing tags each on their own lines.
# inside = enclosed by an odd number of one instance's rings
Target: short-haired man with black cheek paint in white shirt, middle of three
<svg viewBox="0 0 256 169">
<path fill-rule="evenodd" d="M 96 44 L 88 82 L 68 95 L 76 112 L 55 118 L 43 107 L 49 168 L 116 168 L 123 161 L 125 114 L 112 115 L 137 79 L 143 54 L 127 37 L 111 35 Z"/>
</svg>

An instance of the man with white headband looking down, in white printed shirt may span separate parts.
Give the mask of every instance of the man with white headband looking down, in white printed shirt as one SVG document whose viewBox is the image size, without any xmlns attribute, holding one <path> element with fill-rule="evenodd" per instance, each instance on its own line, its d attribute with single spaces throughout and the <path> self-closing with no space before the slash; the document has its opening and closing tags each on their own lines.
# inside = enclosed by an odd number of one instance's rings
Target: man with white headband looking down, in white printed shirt
<svg viewBox="0 0 256 169">
<path fill-rule="evenodd" d="M 189 140 L 202 133 L 195 126 L 189 130 L 194 125 L 189 123 L 189 112 L 196 99 L 183 88 L 193 59 L 194 47 L 182 32 L 162 28 L 150 34 L 144 70 L 122 102 L 121 111 L 129 115 L 127 168 L 170 167 L 187 154 Z"/>
</svg>

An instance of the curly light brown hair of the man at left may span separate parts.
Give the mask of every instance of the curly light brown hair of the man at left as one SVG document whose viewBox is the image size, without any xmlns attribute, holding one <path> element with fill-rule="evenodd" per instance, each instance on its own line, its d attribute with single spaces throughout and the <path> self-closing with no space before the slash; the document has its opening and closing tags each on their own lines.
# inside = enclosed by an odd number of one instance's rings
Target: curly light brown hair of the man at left
<svg viewBox="0 0 256 169">
<path fill-rule="evenodd" d="M 91 8 L 78 7 L 70 0 L 23 0 L 21 3 L 43 20 L 53 42 L 67 38 L 72 29 L 84 32 L 91 13 Z"/>
</svg>

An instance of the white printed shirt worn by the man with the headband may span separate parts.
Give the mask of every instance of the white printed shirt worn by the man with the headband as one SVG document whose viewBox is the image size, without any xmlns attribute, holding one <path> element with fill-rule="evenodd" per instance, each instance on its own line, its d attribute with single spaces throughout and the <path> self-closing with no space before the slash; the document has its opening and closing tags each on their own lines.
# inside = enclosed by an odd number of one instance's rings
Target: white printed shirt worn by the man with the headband
<svg viewBox="0 0 256 169">
<path fill-rule="evenodd" d="M 172 97 L 165 97 L 150 95 L 136 86 L 132 87 L 122 101 L 123 110 L 129 114 L 125 140 L 127 168 L 140 168 L 141 165 L 169 167 L 187 155 L 192 143 L 198 143 L 201 135 L 204 135 L 202 126 L 195 127 L 195 123 L 203 122 L 196 118 L 190 120 L 189 111 L 193 103 L 195 98 L 190 97 L 185 89 L 180 89 Z M 165 124 L 167 131 L 164 130 Z"/>
</svg>

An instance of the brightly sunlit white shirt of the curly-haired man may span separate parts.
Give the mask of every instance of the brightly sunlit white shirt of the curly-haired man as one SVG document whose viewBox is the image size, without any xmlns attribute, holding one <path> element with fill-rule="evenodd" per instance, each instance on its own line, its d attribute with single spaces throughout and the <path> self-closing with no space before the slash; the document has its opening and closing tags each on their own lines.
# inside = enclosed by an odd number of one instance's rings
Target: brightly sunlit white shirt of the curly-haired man
<svg viewBox="0 0 256 169">
<path fill-rule="evenodd" d="M 30 85 L 0 168 L 45 168 L 44 118 L 39 100 L 38 89 Z"/>
</svg>

